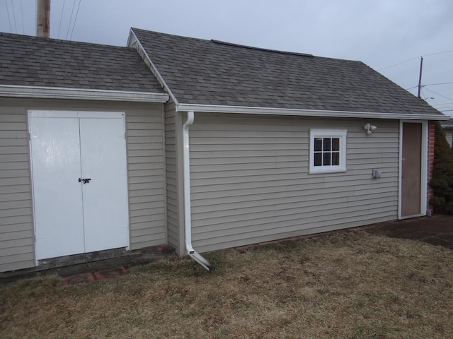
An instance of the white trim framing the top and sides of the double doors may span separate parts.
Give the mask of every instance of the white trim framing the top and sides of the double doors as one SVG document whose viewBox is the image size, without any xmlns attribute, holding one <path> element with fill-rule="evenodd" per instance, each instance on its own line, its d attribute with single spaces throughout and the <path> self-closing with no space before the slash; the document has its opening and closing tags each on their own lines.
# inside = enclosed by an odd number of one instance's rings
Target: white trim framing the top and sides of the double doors
<svg viewBox="0 0 453 339">
<path fill-rule="evenodd" d="M 27 113 L 27 127 L 28 127 L 28 150 L 29 150 L 29 163 L 30 163 L 30 191 L 31 191 L 31 198 L 32 198 L 32 210 L 33 210 L 33 254 L 35 256 L 35 266 L 38 266 L 38 258 L 36 256 L 36 223 L 35 223 L 35 196 L 34 196 L 34 184 L 33 184 L 33 159 L 32 159 L 32 152 L 31 152 L 31 118 L 32 117 L 42 117 L 42 118 L 97 118 L 97 119 L 122 119 L 122 126 L 124 132 L 124 142 L 125 142 L 125 156 L 127 157 L 127 141 L 126 141 L 126 121 L 125 121 L 125 112 L 103 112 L 103 111 L 69 111 L 69 110 L 42 110 L 42 109 L 29 109 Z M 125 161 L 125 173 L 126 173 L 126 185 L 127 185 L 127 192 L 129 191 L 129 177 L 127 175 L 127 159 Z M 129 203 L 129 194 L 126 195 L 127 201 L 127 250 L 130 250 L 130 203 Z"/>
</svg>

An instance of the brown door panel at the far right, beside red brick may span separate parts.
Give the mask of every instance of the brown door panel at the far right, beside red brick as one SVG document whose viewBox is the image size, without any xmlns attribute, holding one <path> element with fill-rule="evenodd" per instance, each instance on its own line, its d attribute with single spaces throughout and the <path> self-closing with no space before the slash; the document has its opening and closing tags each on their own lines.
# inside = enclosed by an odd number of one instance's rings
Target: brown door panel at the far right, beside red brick
<svg viewBox="0 0 453 339">
<path fill-rule="evenodd" d="M 401 217 L 420 215 L 422 124 L 403 123 Z"/>
</svg>

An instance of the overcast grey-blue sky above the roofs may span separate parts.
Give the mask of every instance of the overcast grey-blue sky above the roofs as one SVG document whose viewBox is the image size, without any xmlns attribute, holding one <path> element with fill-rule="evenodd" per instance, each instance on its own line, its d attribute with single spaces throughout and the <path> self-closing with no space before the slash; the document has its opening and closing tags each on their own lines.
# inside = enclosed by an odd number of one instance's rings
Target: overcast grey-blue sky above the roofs
<svg viewBox="0 0 453 339">
<path fill-rule="evenodd" d="M 51 4 L 54 38 L 125 46 L 130 28 L 136 27 L 360 60 L 415 95 L 423 56 L 422 97 L 453 115 L 452 0 L 51 0 Z M 35 23 L 36 0 L 0 0 L 1 32 L 35 35 Z"/>
</svg>

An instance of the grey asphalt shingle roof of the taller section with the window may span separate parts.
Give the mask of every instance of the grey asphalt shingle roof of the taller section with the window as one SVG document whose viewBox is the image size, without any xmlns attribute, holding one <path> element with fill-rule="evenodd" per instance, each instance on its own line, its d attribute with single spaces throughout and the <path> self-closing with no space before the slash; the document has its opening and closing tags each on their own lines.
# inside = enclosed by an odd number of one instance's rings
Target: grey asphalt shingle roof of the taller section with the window
<svg viewBox="0 0 453 339">
<path fill-rule="evenodd" d="M 361 61 L 132 30 L 179 103 L 442 115 Z"/>
</svg>

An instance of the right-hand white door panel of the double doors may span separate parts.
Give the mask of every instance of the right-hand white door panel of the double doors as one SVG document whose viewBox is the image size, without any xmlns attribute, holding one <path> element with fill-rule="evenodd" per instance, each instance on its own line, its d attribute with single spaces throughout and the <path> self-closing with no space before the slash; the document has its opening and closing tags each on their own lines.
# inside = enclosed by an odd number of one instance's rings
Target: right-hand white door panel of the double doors
<svg viewBox="0 0 453 339">
<path fill-rule="evenodd" d="M 128 246 L 124 120 L 80 119 L 85 251 Z"/>
</svg>

